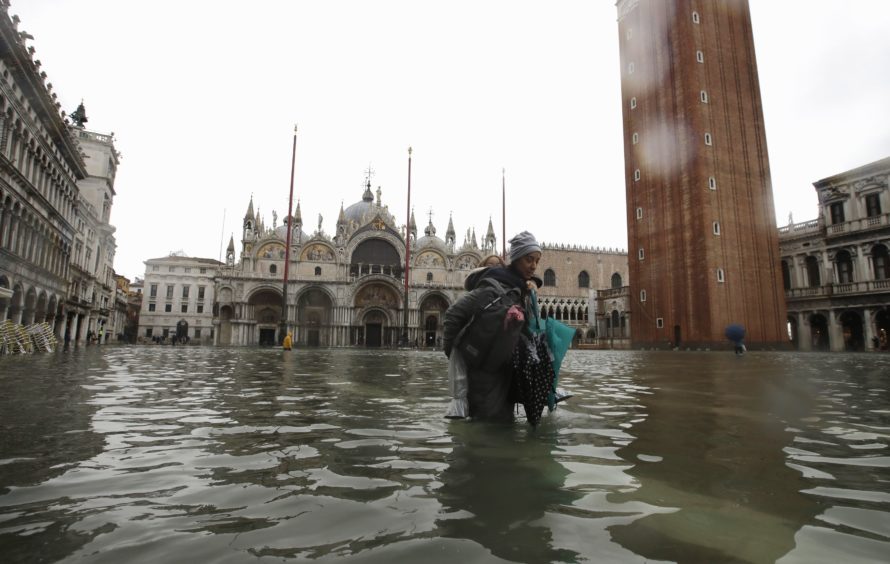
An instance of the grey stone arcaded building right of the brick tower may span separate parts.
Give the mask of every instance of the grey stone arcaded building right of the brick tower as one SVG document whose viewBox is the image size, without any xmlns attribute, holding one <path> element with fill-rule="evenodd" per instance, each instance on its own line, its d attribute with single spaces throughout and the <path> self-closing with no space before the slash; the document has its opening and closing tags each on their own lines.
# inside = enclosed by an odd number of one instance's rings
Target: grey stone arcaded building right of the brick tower
<svg viewBox="0 0 890 564">
<path fill-rule="evenodd" d="M 798 350 L 888 350 L 890 157 L 813 184 L 819 217 L 779 229 Z"/>
</svg>

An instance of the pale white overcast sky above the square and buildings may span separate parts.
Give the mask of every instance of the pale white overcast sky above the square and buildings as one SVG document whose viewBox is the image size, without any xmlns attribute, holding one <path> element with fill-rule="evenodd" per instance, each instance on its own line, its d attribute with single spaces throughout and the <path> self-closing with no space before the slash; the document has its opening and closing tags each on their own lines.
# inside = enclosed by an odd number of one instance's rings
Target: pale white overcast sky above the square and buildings
<svg viewBox="0 0 890 564">
<path fill-rule="evenodd" d="M 750 0 L 778 225 L 812 183 L 890 156 L 890 1 Z M 62 107 L 122 153 L 115 270 L 220 258 L 251 194 L 332 233 L 365 171 L 461 243 L 627 247 L 614 0 L 12 0 Z M 240 249 L 240 245 L 238 245 Z"/>
</svg>

